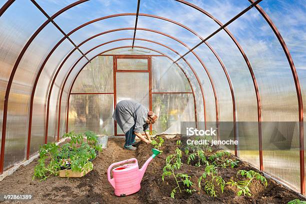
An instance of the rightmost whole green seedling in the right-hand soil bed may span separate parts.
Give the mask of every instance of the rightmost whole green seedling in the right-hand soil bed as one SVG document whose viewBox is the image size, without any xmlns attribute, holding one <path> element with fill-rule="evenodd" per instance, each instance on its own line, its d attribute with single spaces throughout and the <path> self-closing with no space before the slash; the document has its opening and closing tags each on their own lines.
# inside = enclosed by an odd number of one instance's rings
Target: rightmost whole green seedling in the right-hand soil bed
<svg viewBox="0 0 306 204">
<path fill-rule="evenodd" d="M 262 175 L 260 175 L 260 173 L 254 171 L 254 170 L 238 170 L 237 172 L 237 176 L 241 175 L 242 177 L 246 177 L 245 180 L 239 180 L 239 181 L 233 181 L 232 179 L 227 182 L 226 184 L 231 184 L 232 186 L 236 186 L 239 191 L 237 192 L 237 195 L 240 196 L 242 193 L 243 195 L 248 195 L 251 196 L 251 192 L 249 190 L 249 186 L 250 184 L 252 184 L 252 181 L 254 179 L 256 180 L 260 180 L 261 183 L 266 187 L 267 185 L 267 181 L 266 178 Z"/>
</svg>

